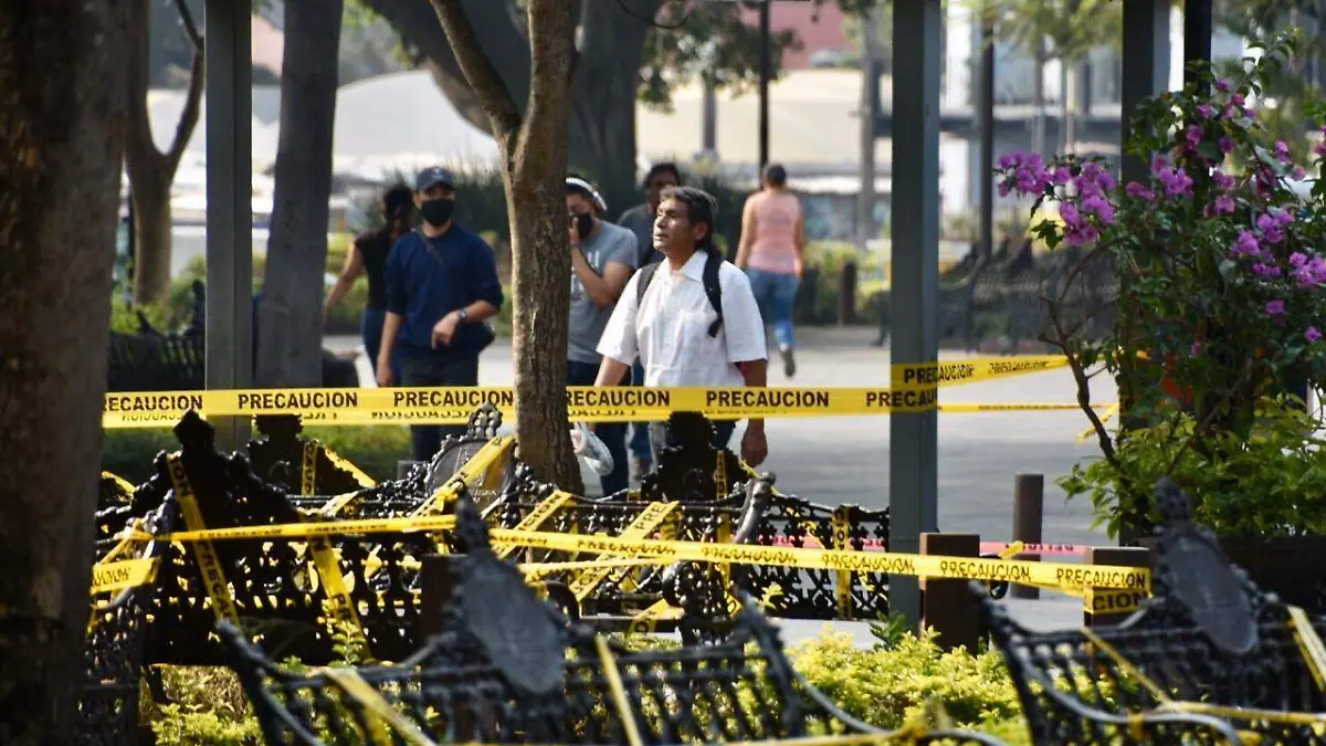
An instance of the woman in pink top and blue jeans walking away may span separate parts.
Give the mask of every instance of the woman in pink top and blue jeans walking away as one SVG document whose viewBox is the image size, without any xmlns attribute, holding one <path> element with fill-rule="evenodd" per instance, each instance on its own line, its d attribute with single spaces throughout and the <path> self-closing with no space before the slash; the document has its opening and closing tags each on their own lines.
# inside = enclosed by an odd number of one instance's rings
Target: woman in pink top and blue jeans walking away
<svg viewBox="0 0 1326 746">
<path fill-rule="evenodd" d="M 793 354 L 792 307 L 801 284 L 801 256 L 806 246 L 806 222 L 801 200 L 788 191 L 788 170 L 770 163 L 762 188 L 747 198 L 741 211 L 741 242 L 737 267 L 751 279 L 751 291 L 782 354 L 782 372 L 797 373 Z"/>
</svg>

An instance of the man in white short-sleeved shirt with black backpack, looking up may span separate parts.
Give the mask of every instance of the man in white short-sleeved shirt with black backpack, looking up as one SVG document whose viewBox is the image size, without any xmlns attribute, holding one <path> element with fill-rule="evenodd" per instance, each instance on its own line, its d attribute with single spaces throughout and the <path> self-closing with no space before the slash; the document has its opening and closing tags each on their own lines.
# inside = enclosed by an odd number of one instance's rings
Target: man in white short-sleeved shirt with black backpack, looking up
<svg viewBox="0 0 1326 746">
<path fill-rule="evenodd" d="M 595 386 L 618 385 L 636 356 L 646 386 L 765 386 L 764 321 L 751 281 L 713 246 L 716 211 L 701 190 L 663 191 L 654 248 L 666 259 L 636 271 L 622 291 L 598 342 L 603 362 Z M 725 447 L 735 427 L 733 421 L 715 422 L 715 446 Z M 664 423 L 650 425 L 655 462 L 667 437 Z M 768 451 L 764 419 L 751 419 L 741 458 L 758 466 Z"/>
</svg>

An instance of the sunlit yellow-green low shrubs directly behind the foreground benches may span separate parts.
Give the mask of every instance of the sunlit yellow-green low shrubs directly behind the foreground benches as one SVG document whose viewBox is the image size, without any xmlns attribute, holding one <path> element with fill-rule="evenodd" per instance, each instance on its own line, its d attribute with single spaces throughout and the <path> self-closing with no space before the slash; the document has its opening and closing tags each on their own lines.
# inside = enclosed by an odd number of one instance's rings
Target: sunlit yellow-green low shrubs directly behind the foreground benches
<svg viewBox="0 0 1326 746">
<path fill-rule="evenodd" d="M 666 648 L 663 638 L 631 637 L 627 646 Z M 934 634 L 902 636 L 891 645 L 857 648 L 826 633 L 790 650 L 792 664 L 847 714 L 892 729 L 922 717 L 927 702 L 952 719 L 1010 746 L 1029 745 L 1017 693 L 998 654 L 940 650 Z M 257 746 L 260 731 L 229 669 L 160 666 L 172 705 L 142 701 L 143 722 L 159 746 Z"/>
</svg>

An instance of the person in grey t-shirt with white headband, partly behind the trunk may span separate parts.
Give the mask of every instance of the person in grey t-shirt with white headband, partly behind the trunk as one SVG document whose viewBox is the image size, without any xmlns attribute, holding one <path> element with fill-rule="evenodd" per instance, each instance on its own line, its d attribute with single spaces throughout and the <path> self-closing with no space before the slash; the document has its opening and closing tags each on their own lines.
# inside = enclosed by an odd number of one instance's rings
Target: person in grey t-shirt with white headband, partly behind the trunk
<svg viewBox="0 0 1326 746">
<path fill-rule="evenodd" d="M 622 289 L 636 265 L 635 234 L 605 222 L 602 195 L 581 177 L 566 178 L 568 243 L 572 252 L 572 303 L 568 319 L 566 385 L 591 386 L 602 356 L 598 341 L 617 308 Z M 630 382 L 630 370 L 623 382 Z M 626 459 L 626 423 L 605 422 L 595 434 L 611 454 L 613 469 L 599 475 L 605 495 L 626 490 L 630 466 Z"/>
</svg>

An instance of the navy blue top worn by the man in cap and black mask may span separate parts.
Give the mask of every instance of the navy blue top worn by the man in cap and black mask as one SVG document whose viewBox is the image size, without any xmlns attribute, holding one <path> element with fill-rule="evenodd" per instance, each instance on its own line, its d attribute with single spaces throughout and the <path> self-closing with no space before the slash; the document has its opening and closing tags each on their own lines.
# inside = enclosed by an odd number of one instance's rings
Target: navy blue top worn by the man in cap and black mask
<svg viewBox="0 0 1326 746">
<path fill-rule="evenodd" d="M 446 260 L 439 261 L 424 242 Z M 436 238 L 411 231 L 387 256 L 387 311 L 403 319 L 396 349 L 404 357 L 479 354 L 491 341 L 483 324 L 460 324 L 451 344 L 432 349 L 432 328 L 443 316 L 476 300 L 501 307 L 501 280 L 493 250 L 476 234 L 452 224 Z"/>
</svg>

